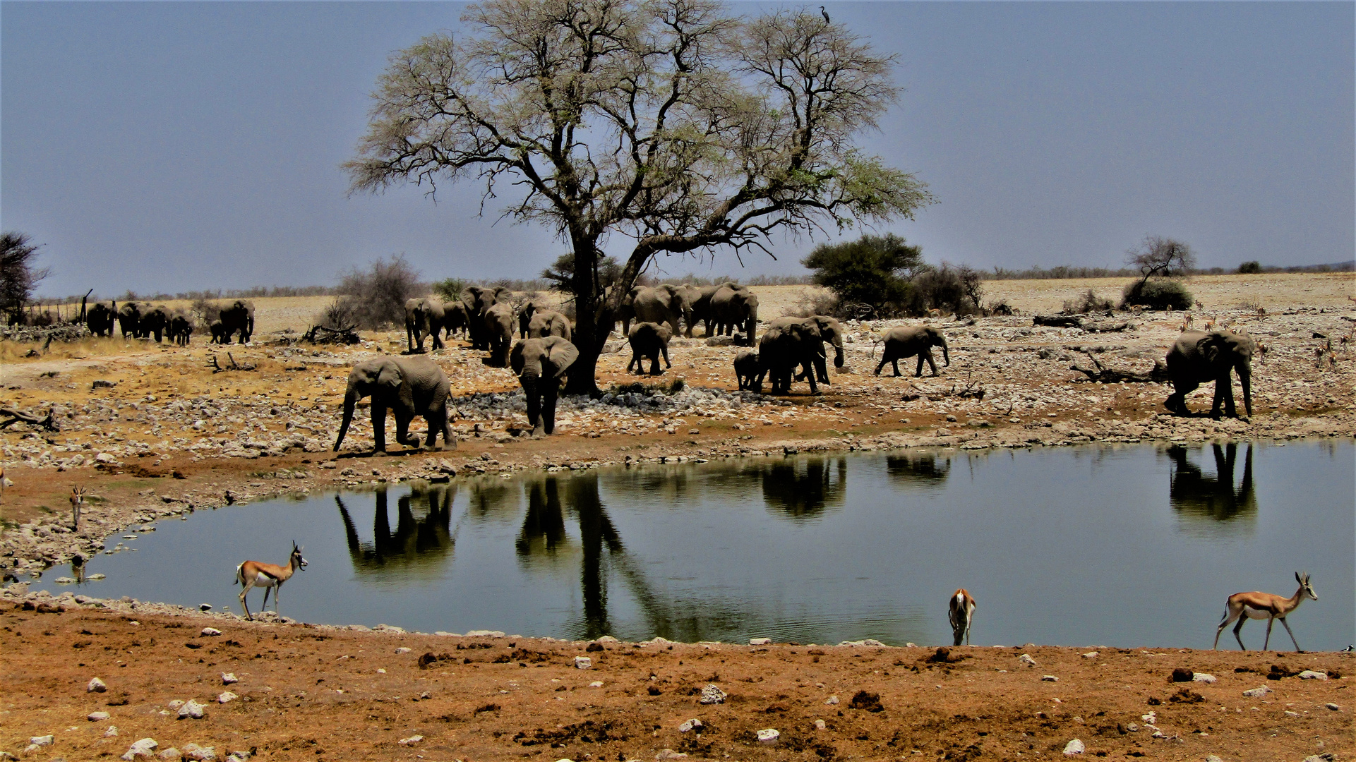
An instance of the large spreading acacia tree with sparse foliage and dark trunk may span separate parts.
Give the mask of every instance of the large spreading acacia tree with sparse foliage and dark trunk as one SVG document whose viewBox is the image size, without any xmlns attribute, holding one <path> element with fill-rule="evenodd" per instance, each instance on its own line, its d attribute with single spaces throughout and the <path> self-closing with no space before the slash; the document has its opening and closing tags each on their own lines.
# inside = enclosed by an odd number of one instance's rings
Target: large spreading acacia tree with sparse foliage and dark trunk
<svg viewBox="0 0 1356 762">
<path fill-rule="evenodd" d="M 621 297 L 656 254 L 766 251 L 778 229 L 911 217 L 932 199 L 853 142 L 895 100 L 892 58 L 819 14 L 488 0 L 462 22 L 468 34 L 391 57 L 344 167 L 354 191 L 477 179 L 507 216 L 555 229 L 575 258 L 567 392 L 597 390 Z M 603 289 L 610 236 L 632 249 Z"/>
</svg>

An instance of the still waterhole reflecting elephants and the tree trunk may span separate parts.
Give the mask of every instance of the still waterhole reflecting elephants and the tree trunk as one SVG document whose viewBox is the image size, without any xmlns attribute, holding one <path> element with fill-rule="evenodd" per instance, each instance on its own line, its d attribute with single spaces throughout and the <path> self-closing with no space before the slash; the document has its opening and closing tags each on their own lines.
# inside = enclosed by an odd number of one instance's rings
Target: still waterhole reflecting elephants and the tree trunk
<svg viewBox="0 0 1356 762">
<path fill-rule="evenodd" d="M 1351 439 L 909 450 L 404 484 L 161 521 L 81 587 L 239 611 L 236 564 L 296 540 L 309 567 L 282 613 L 309 622 L 942 644 L 965 587 L 975 644 L 1208 648 L 1229 594 L 1290 595 L 1307 571 L 1319 599 L 1291 628 L 1337 649 L 1356 640 L 1353 460 Z"/>
</svg>

